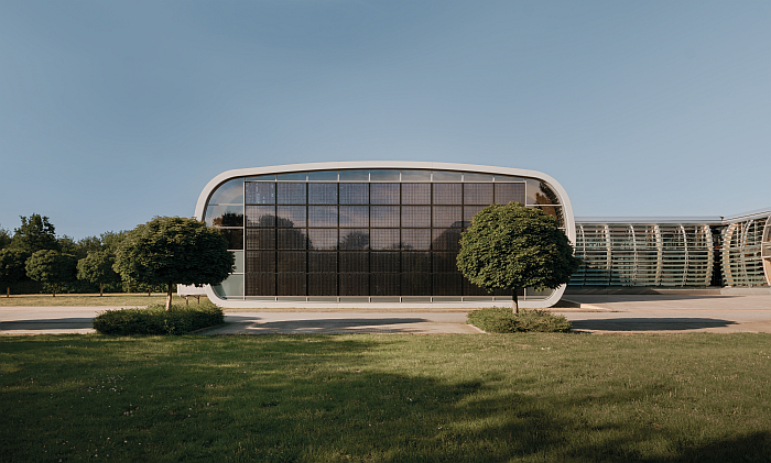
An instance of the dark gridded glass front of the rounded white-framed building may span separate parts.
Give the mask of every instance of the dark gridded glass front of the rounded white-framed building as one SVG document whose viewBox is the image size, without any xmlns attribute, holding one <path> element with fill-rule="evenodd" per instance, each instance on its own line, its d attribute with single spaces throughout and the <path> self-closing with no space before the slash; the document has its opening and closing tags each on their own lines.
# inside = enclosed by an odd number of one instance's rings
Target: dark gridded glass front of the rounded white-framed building
<svg viewBox="0 0 771 463">
<path fill-rule="evenodd" d="M 460 233 L 486 206 L 510 201 L 564 227 L 557 196 L 532 178 L 367 169 L 234 179 L 205 212 L 243 263 L 216 290 L 227 298 L 490 296 L 457 269 Z"/>
</svg>

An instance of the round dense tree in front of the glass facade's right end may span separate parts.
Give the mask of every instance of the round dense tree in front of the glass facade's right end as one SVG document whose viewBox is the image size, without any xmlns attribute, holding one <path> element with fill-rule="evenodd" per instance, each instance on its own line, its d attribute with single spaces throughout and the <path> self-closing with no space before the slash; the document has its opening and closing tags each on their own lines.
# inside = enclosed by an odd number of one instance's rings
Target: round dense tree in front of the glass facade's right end
<svg viewBox="0 0 771 463">
<path fill-rule="evenodd" d="M 475 285 L 511 289 L 554 289 L 567 283 L 580 260 L 557 221 L 519 202 L 491 205 L 479 211 L 460 238 L 457 265 Z"/>
</svg>

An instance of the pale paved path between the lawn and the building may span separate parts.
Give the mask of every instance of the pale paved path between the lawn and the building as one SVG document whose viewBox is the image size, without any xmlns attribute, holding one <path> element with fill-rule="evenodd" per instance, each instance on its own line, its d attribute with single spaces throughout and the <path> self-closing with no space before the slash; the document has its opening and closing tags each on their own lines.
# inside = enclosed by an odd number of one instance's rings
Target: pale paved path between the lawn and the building
<svg viewBox="0 0 771 463">
<path fill-rule="evenodd" d="M 575 331 L 771 332 L 771 296 L 567 296 L 575 308 L 555 308 Z M 0 307 L 0 334 L 89 333 L 105 307 Z M 206 334 L 260 333 L 478 333 L 466 312 L 447 311 L 227 310 L 227 324 Z"/>
</svg>

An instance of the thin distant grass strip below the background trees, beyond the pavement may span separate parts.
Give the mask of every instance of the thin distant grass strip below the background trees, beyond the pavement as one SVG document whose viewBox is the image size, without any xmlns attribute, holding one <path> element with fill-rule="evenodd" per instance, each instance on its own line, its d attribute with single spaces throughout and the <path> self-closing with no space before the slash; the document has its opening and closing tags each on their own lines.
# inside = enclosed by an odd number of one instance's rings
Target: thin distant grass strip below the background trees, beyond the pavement
<svg viewBox="0 0 771 463">
<path fill-rule="evenodd" d="M 200 297 L 200 302 L 208 300 L 206 296 Z M 184 304 L 185 298 L 174 295 L 174 304 Z M 6 297 L 3 294 L 0 297 L 0 307 L 145 307 L 159 304 L 166 304 L 165 293 L 152 293 L 148 296 L 146 293 L 115 293 L 83 295 L 83 294 L 65 294 L 56 295 L 11 295 Z M 194 297 L 189 298 L 189 305 L 195 306 L 198 300 Z"/>
</svg>

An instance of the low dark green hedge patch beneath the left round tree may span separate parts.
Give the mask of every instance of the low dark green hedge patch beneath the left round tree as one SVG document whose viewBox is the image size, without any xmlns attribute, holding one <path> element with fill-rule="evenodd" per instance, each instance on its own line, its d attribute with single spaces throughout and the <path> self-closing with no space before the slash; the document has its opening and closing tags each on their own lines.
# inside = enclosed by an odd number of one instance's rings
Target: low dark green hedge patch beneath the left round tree
<svg viewBox="0 0 771 463">
<path fill-rule="evenodd" d="M 150 306 L 146 309 L 106 310 L 94 319 L 94 329 L 101 334 L 186 334 L 202 328 L 221 324 L 222 309 L 214 304 L 200 307 Z"/>
</svg>

